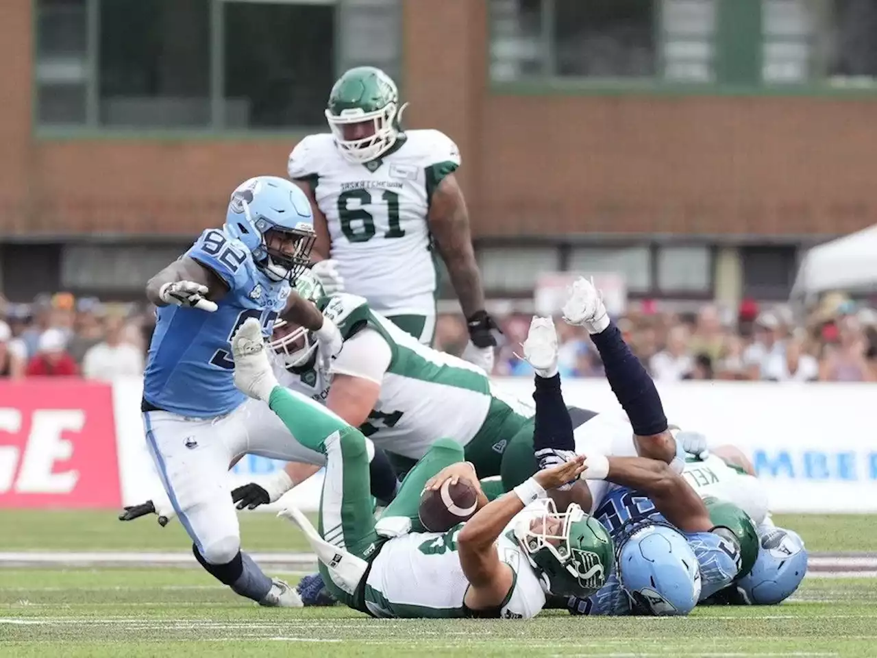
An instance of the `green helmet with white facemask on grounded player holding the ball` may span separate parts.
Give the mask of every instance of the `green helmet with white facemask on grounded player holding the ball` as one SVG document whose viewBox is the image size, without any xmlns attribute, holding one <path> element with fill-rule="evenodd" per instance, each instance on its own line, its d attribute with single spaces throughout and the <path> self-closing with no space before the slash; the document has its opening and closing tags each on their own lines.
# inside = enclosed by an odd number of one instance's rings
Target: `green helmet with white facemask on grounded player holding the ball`
<svg viewBox="0 0 877 658">
<path fill-rule="evenodd" d="M 548 534 L 531 527 L 539 515 L 525 515 L 517 521 L 514 534 L 545 590 L 555 595 L 589 597 L 599 590 L 612 572 L 614 552 L 606 528 L 579 505 L 570 504 L 560 514 L 553 500 L 547 500 L 544 517 L 560 520 L 560 534 Z"/>
</svg>

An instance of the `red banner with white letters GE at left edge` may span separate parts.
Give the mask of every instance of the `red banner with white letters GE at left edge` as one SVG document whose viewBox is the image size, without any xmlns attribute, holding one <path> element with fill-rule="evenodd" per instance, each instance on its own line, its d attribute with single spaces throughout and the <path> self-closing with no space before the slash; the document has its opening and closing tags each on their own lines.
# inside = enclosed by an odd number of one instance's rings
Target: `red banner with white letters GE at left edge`
<svg viewBox="0 0 877 658">
<path fill-rule="evenodd" d="M 0 383 L 0 507 L 120 503 L 112 387 L 47 378 Z"/>
</svg>

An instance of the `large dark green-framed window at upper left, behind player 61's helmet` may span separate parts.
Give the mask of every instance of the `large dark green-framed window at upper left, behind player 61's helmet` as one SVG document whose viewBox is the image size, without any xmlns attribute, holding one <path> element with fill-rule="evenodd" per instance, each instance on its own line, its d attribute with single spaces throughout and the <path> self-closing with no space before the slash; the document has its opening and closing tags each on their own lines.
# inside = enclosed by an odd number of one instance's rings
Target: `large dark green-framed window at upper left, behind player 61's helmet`
<svg viewBox="0 0 877 658">
<path fill-rule="evenodd" d="M 400 69 L 401 0 L 37 0 L 36 6 L 41 125 L 323 125 L 325 100 L 341 71 L 366 63 L 390 75 Z"/>
</svg>

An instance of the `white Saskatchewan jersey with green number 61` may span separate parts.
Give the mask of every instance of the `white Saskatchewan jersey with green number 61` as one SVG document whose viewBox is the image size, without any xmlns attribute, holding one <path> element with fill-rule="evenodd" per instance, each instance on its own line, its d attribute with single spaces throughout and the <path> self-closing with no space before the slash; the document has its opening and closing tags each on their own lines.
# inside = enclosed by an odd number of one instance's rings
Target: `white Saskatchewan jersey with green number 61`
<svg viewBox="0 0 877 658">
<path fill-rule="evenodd" d="M 310 135 L 288 171 L 312 186 L 346 290 L 384 315 L 431 315 L 437 275 L 426 216 L 433 190 L 459 166 L 443 132 L 410 130 L 366 164 L 345 160 L 330 133 Z"/>
</svg>

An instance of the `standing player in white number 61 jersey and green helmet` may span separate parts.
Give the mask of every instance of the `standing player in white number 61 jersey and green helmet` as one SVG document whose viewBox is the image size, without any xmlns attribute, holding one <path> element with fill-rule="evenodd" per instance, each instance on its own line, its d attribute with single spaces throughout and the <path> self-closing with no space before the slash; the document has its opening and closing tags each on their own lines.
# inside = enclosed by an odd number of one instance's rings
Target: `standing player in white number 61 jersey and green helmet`
<svg viewBox="0 0 877 658">
<path fill-rule="evenodd" d="M 374 311 L 431 345 L 438 249 L 467 318 L 465 358 L 489 373 L 499 330 L 485 311 L 454 175 L 460 151 L 438 130 L 403 130 L 406 105 L 381 69 L 351 68 L 329 95 L 331 132 L 305 137 L 289 155 L 289 177 L 314 212 L 314 255 L 321 260 L 314 272 L 328 293 L 365 297 Z"/>
</svg>

